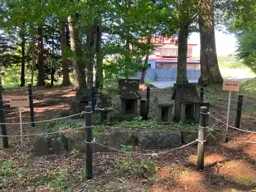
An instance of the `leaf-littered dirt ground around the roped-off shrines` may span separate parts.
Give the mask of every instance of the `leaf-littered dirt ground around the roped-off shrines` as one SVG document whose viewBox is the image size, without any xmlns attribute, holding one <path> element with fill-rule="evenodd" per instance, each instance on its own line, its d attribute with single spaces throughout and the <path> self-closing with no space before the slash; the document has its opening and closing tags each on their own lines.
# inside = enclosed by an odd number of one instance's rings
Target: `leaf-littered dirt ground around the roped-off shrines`
<svg viewBox="0 0 256 192">
<path fill-rule="evenodd" d="M 141 87 L 143 88 L 143 86 Z M 151 88 L 151 111 L 154 113 L 156 95 L 170 95 L 170 89 Z M 145 90 L 141 91 L 145 98 Z M 3 99 L 9 102 L 10 95 L 27 95 L 27 90 L 4 91 Z M 115 94 L 114 94 L 115 95 Z M 69 100 L 75 96 L 70 88 L 55 87 L 34 90 L 35 119 L 52 118 L 62 110 L 69 109 Z M 117 98 L 115 98 L 118 100 Z M 17 109 L 5 104 L 6 122 L 19 122 Z M 116 103 L 116 102 L 115 102 Z M 118 105 L 118 104 L 117 104 Z M 211 107 L 210 113 L 226 120 L 226 112 Z M 231 111 L 230 123 L 234 123 L 235 112 Z M 210 118 L 219 127 L 225 125 Z M 29 108 L 23 109 L 23 121 L 30 121 Z M 256 131 L 256 121 L 243 115 L 241 128 Z M 38 127 L 24 125 L 24 134 L 38 133 Z M 8 135 L 18 135 L 19 125 L 7 125 Z M 229 129 L 232 138 L 256 141 L 256 134 Z M 229 140 L 219 146 L 206 146 L 205 169 L 197 171 L 197 146 L 158 157 L 134 156 L 118 153 L 96 153 L 93 155 L 94 177 L 85 179 L 85 155 L 79 152 L 61 156 L 35 157 L 31 147 L 35 137 L 20 139 L 9 137 L 10 147 L 0 150 L 0 191 L 148 191 L 148 192 L 195 192 L 195 191 L 254 191 L 256 189 L 256 144 Z M 2 141 L 1 141 L 2 146 Z M 133 152 L 157 153 L 134 147 Z M 153 168 L 152 163 L 154 164 Z M 128 169 L 125 173 L 120 170 Z M 141 166 L 142 165 L 142 166 Z M 236 189 L 236 190 L 234 190 Z"/>
</svg>

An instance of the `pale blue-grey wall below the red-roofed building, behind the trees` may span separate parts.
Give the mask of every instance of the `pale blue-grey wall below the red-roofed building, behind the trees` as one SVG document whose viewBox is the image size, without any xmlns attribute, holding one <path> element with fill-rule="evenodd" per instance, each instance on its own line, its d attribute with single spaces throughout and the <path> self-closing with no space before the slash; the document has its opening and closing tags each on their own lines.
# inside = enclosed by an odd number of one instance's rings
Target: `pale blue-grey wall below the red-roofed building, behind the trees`
<svg viewBox="0 0 256 192">
<path fill-rule="evenodd" d="M 198 80 L 201 75 L 200 70 L 187 70 L 188 80 Z M 175 81 L 177 76 L 176 69 L 148 69 L 145 79 L 151 81 Z M 137 74 L 141 78 L 141 72 Z"/>
</svg>

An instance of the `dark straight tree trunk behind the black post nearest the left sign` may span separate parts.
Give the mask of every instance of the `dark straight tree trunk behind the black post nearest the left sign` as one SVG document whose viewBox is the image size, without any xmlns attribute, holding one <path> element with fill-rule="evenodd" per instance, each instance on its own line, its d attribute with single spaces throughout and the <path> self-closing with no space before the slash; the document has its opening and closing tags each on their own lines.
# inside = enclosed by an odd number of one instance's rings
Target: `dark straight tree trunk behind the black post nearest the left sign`
<svg viewBox="0 0 256 192">
<path fill-rule="evenodd" d="M 37 86 L 45 86 L 44 77 L 44 44 L 43 44 L 42 28 L 38 26 L 38 80 Z"/>
</svg>

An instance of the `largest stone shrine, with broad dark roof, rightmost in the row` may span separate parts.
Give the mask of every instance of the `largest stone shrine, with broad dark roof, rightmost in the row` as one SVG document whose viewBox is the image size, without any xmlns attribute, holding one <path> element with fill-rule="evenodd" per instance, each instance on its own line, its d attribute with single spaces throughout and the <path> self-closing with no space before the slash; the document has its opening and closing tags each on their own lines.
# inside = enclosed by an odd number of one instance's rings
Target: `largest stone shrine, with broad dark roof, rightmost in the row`
<svg viewBox="0 0 256 192">
<path fill-rule="evenodd" d="M 174 120 L 186 123 L 198 123 L 200 99 L 195 84 L 175 83 L 172 99 L 175 100 Z"/>
</svg>

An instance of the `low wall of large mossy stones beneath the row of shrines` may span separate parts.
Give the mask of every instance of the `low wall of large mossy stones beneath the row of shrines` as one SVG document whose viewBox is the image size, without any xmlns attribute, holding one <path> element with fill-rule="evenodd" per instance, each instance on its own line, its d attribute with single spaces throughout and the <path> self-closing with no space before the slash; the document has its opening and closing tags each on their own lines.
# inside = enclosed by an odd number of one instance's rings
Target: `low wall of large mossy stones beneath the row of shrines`
<svg viewBox="0 0 256 192">
<path fill-rule="evenodd" d="M 127 129 L 129 130 L 129 129 Z M 223 133 L 221 130 L 215 130 Z M 207 133 L 208 134 L 208 133 Z M 93 137 L 96 141 L 106 146 L 121 149 L 123 145 L 140 146 L 144 150 L 154 148 L 176 148 L 182 143 L 189 143 L 198 138 L 198 131 L 193 130 L 142 130 L 142 131 L 129 131 L 113 132 L 113 133 L 94 133 Z M 41 135 L 36 139 L 34 145 L 34 155 L 43 156 L 48 154 L 62 154 L 68 153 L 73 149 L 81 153 L 86 151 L 86 133 L 82 131 L 66 132 L 64 134 Z M 219 134 L 210 134 L 207 137 L 206 144 L 215 145 L 225 142 L 225 136 Z M 196 143 L 195 143 L 196 144 Z M 98 144 L 93 144 L 93 152 L 110 152 L 109 148 L 103 147 Z"/>
</svg>

